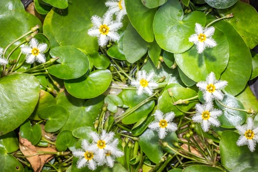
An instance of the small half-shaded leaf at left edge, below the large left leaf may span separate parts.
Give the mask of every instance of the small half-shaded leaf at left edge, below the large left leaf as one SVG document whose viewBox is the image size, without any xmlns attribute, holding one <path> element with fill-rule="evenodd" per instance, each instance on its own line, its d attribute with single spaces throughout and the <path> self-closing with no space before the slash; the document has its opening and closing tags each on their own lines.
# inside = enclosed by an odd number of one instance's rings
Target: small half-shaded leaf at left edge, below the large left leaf
<svg viewBox="0 0 258 172">
<path fill-rule="evenodd" d="M 7 153 L 11 153 L 19 149 L 18 138 L 14 131 L 0 136 L 0 147 L 3 147 Z"/>
</svg>

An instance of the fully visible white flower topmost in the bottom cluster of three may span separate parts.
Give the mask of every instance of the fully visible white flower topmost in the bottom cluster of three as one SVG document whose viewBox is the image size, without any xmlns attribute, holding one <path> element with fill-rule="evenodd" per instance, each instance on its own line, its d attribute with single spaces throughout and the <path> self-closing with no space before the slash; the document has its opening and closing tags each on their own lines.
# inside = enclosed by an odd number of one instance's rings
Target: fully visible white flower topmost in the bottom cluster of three
<svg viewBox="0 0 258 172">
<path fill-rule="evenodd" d="M 95 132 L 90 133 L 93 142 L 89 149 L 96 153 L 98 162 L 104 161 L 106 153 L 109 151 L 116 154 L 117 148 L 112 144 L 114 135 L 114 132 L 107 133 L 105 130 L 102 131 L 100 136 Z"/>
</svg>

